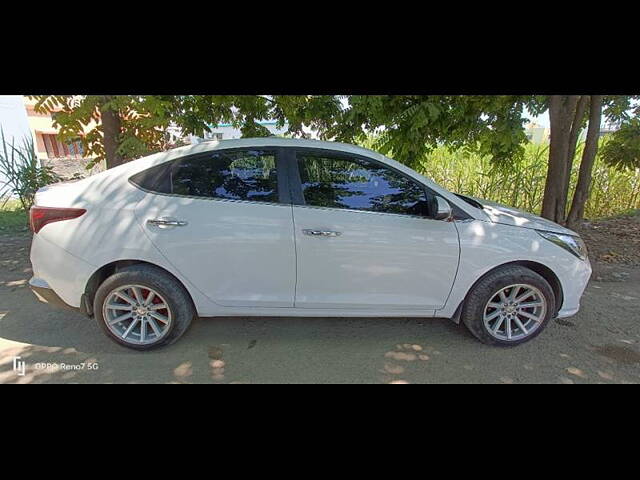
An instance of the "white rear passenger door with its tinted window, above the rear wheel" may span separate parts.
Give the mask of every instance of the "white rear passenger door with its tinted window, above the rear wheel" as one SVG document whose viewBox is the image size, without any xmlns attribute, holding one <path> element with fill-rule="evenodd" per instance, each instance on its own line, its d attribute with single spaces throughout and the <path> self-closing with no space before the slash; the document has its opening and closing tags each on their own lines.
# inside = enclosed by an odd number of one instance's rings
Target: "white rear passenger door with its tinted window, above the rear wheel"
<svg viewBox="0 0 640 480">
<path fill-rule="evenodd" d="M 295 246 L 280 150 L 213 150 L 132 177 L 154 245 L 212 301 L 292 307 Z"/>
</svg>

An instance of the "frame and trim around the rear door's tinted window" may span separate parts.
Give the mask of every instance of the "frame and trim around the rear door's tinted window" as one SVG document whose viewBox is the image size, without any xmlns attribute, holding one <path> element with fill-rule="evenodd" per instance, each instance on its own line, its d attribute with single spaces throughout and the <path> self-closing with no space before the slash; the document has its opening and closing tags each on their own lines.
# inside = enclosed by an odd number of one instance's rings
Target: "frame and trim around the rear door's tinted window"
<svg viewBox="0 0 640 480">
<path fill-rule="evenodd" d="M 278 201 L 277 202 L 261 202 L 257 200 L 239 200 L 233 198 L 221 198 L 221 197 L 201 197 L 198 195 L 181 195 L 179 193 L 165 193 L 158 192 L 155 190 L 149 190 L 148 188 L 143 187 L 142 185 L 136 183 L 133 178 L 137 175 L 143 174 L 151 170 L 152 168 L 163 167 L 166 170 L 169 170 L 168 175 L 170 175 L 170 180 L 172 180 L 173 170 L 175 166 L 184 160 L 193 157 L 204 156 L 206 154 L 213 153 L 230 153 L 230 152 L 244 152 L 247 150 L 263 150 L 267 152 L 273 152 L 275 154 L 275 164 L 276 164 L 276 187 L 278 189 Z M 162 195 L 165 197 L 176 197 L 176 198 L 191 198 L 194 200 L 207 200 L 207 201 L 215 201 L 215 202 L 235 202 L 235 203 L 251 203 L 256 205 L 276 205 L 276 206 L 291 206 L 291 194 L 289 187 L 289 174 L 288 174 L 288 162 L 285 161 L 285 155 L 282 147 L 234 147 L 234 148 L 220 148 L 220 149 L 212 149 L 206 152 L 198 152 L 192 153 L 190 155 L 185 155 L 182 157 L 172 158 L 171 160 L 167 160 L 166 162 L 158 163 L 156 165 L 152 165 L 144 170 L 134 173 L 129 177 L 129 183 L 134 187 L 142 190 L 143 192 L 150 193 L 153 195 Z"/>
</svg>

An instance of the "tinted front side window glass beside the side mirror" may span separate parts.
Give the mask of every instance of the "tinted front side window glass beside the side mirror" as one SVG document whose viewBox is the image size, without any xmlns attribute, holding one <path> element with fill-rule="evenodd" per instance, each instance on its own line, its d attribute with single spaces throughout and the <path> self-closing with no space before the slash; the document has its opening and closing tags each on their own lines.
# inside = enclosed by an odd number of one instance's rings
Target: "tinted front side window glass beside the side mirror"
<svg viewBox="0 0 640 480">
<path fill-rule="evenodd" d="M 299 154 L 305 204 L 432 216 L 435 197 L 424 186 L 375 162 Z"/>
</svg>

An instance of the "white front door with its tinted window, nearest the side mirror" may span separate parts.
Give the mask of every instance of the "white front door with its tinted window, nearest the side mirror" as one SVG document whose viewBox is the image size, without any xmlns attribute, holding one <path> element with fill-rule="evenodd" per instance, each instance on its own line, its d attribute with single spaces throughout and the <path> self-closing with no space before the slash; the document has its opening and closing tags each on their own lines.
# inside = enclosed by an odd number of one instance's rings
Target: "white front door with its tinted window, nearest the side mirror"
<svg viewBox="0 0 640 480">
<path fill-rule="evenodd" d="M 432 218 L 434 193 L 388 165 L 330 150 L 298 150 L 292 171 L 296 307 L 444 306 L 459 240 L 453 222 Z"/>
</svg>

